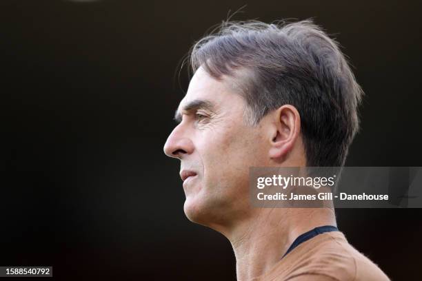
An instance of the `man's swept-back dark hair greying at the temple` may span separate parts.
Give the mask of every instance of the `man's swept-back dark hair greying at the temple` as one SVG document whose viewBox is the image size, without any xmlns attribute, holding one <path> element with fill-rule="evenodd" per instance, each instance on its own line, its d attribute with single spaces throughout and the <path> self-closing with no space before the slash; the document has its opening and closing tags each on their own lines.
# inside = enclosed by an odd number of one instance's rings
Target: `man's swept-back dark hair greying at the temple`
<svg viewBox="0 0 422 281">
<path fill-rule="evenodd" d="M 312 20 L 226 21 L 194 44 L 190 65 L 237 81 L 246 122 L 290 104 L 301 116 L 307 166 L 343 166 L 359 129 L 363 91 L 339 44 Z"/>
</svg>

